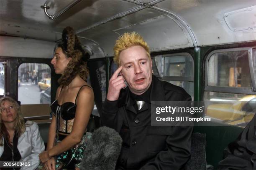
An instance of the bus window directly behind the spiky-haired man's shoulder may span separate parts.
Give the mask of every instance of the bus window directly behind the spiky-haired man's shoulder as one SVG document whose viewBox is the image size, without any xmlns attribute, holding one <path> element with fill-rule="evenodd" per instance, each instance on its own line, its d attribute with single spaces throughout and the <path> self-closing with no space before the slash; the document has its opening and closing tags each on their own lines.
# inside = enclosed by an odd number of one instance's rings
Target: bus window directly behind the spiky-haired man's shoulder
<svg viewBox="0 0 256 170">
<path fill-rule="evenodd" d="M 159 58 L 162 58 L 164 65 L 161 65 Z M 155 57 L 155 61 L 161 80 L 184 88 L 193 99 L 194 60 L 192 56 L 188 53 L 160 55 Z"/>
</svg>

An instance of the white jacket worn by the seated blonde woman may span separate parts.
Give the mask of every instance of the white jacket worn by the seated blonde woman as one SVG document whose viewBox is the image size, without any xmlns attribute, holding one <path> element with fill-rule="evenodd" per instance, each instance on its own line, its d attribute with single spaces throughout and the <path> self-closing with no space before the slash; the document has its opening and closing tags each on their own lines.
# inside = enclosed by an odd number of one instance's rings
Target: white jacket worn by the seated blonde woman
<svg viewBox="0 0 256 170">
<path fill-rule="evenodd" d="M 25 132 L 18 139 L 18 150 L 21 155 L 20 161 L 30 162 L 30 166 L 23 166 L 20 170 L 35 170 L 40 163 L 38 154 L 44 151 L 44 141 L 40 136 L 36 122 L 28 120 L 26 125 L 28 126 L 26 126 Z M 0 156 L 3 151 L 4 146 L 0 146 Z"/>
</svg>

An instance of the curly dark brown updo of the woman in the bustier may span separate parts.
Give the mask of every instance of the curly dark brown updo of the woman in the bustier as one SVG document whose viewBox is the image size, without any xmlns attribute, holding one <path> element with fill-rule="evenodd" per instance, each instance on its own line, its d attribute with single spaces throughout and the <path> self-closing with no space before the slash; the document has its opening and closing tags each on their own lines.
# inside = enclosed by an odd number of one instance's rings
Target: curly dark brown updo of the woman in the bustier
<svg viewBox="0 0 256 170">
<path fill-rule="evenodd" d="M 60 85 L 69 85 L 69 83 L 79 75 L 84 81 L 87 80 L 89 70 L 87 60 L 90 55 L 84 51 L 82 45 L 74 33 L 73 28 L 66 27 L 62 32 L 62 42 L 58 43 L 56 47 L 61 47 L 62 51 L 67 57 L 72 59 L 69 61 L 64 73 L 59 78 Z"/>
</svg>

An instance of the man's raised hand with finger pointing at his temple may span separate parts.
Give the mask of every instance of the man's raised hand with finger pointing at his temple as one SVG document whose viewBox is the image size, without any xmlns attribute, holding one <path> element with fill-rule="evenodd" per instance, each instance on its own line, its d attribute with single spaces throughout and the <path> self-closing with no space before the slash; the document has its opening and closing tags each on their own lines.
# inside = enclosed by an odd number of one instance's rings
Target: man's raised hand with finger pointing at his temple
<svg viewBox="0 0 256 170">
<path fill-rule="evenodd" d="M 123 78 L 123 75 L 118 76 L 118 74 L 122 70 L 122 66 L 120 66 L 112 75 L 112 77 L 109 80 L 109 86 L 108 86 L 108 95 L 107 99 L 110 101 L 118 100 L 120 90 L 125 87 L 125 80 Z"/>
</svg>

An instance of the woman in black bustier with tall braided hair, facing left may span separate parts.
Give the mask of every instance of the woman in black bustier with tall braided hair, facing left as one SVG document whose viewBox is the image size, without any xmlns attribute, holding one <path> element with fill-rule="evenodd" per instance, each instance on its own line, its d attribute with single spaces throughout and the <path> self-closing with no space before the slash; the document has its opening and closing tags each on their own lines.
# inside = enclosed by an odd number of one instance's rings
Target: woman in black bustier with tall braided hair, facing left
<svg viewBox="0 0 256 170">
<path fill-rule="evenodd" d="M 46 170 L 79 169 L 86 141 L 87 123 L 94 105 L 93 90 L 87 84 L 89 55 L 84 52 L 71 27 L 62 32 L 62 42 L 57 45 L 51 64 L 56 74 L 61 74 L 53 112 L 47 150 L 39 154 Z M 39 166 L 39 169 L 43 169 Z"/>
</svg>

